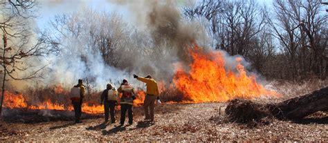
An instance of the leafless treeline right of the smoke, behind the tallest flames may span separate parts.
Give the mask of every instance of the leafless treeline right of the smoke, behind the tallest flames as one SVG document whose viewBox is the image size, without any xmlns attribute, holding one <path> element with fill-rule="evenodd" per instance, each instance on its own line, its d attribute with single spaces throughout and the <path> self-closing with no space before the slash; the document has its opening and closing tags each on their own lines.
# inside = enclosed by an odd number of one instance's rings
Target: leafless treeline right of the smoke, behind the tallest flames
<svg viewBox="0 0 328 143">
<path fill-rule="evenodd" d="M 209 22 L 216 49 L 243 55 L 270 79 L 327 77 L 327 12 L 321 0 L 203 0 L 185 17 Z"/>
</svg>

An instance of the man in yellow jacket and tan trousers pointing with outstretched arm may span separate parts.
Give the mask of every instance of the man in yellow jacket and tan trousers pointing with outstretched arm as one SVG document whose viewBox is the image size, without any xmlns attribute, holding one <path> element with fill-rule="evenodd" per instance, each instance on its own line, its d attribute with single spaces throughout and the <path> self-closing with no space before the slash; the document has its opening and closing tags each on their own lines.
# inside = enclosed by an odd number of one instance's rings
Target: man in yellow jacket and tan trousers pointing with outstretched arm
<svg viewBox="0 0 328 143">
<path fill-rule="evenodd" d="M 150 120 L 150 122 L 154 122 L 155 101 L 156 99 L 158 99 L 159 101 L 159 90 L 157 82 L 152 78 L 152 75 L 147 75 L 146 77 L 138 77 L 138 75 L 134 75 L 134 78 L 146 83 L 147 95 L 143 102 L 143 108 L 145 110 L 145 120 Z M 150 111 L 150 114 L 148 111 Z"/>
</svg>

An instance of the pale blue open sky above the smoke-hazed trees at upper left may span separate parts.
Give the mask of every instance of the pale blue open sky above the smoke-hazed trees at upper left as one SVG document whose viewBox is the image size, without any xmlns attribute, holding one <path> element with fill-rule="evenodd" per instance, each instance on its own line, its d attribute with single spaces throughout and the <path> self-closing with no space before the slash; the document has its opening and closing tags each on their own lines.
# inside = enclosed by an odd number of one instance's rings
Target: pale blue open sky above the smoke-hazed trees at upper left
<svg viewBox="0 0 328 143">
<path fill-rule="evenodd" d="M 183 1 L 183 0 L 181 0 Z M 184 0 L 185 1 L 185 0 Z M 257 0 L 259 4 L 271 5 L 273 0 Z M 35 19 L 38 28 L 44 29 L 55 15 L 75 12 L 82 8 L 93 10 L 118 12 L 122 17 L 129 16 L 129 10 L 125 6 L 111 3 L 110 0 L 39 0 L 39 17 Z M 127 20 L 127 19 L 125 19 Z M 125 21 L 133 24 L 131 21 Z"/>
</svg>

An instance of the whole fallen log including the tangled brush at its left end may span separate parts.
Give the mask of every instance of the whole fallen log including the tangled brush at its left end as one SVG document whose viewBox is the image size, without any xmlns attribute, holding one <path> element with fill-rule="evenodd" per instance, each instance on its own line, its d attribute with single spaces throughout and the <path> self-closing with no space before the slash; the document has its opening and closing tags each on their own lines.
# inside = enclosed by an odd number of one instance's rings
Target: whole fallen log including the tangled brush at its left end
<svg viewBox="0 0 328 143">
<path fill-rule="evenodd" d="M 244 99 L 233 99 L 226 108 L 226 115 L 233 122 L 258 121 L 263 117 L 300 120 L 318 111 L 327 111 L 328 87 L 288 99 L 277 104 L 256 104 Z"/>
</svg>

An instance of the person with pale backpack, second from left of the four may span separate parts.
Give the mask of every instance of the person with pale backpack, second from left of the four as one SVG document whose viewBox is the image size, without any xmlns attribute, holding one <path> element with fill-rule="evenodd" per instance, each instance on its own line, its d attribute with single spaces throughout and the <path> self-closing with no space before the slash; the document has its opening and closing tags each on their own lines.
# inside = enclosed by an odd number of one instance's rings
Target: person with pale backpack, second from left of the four
<svg viewBox="0 0 328 143">
<path fill-rule="evenodd" d="M 107 84 L 107 88 L 102 91 L 100 104 L 104 104 L 104 122 L 108 122 L 110 112 L 111 123 L 115 123 L 115 106 L 117 104 L 117 96 L 117 91 L 111 84 Z"/>
</svg>

